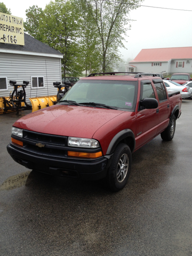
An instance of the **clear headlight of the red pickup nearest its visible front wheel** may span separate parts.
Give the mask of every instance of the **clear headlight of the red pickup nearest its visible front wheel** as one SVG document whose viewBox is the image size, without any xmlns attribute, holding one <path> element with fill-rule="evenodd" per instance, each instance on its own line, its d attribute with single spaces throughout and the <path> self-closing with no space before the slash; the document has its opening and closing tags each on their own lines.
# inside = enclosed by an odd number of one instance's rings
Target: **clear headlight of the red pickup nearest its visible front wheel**
<svg viewBox="0 0 192 256">
<path fill-rule="evenodd" d="M 69 137 L 68 146 L 79 148 L 99 148 L 99 142 L 93 139 Z"/>
</svg>

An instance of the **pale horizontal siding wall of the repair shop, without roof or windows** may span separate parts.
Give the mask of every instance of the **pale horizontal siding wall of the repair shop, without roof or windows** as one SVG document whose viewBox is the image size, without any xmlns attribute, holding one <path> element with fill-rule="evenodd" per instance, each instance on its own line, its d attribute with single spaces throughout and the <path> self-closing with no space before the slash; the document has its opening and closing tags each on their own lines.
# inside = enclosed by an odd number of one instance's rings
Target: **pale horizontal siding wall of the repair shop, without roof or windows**
<svg viewBox="0 0 192 256">
<path fill-rule="evenodd" d="M 44 76 L 44 86 L 31 89 L 31 76 Z M 10 80 L 17 84 L 29 81 L 26 88 L 27 99 L 46 95 L 56 95 L 57 88 L 53 82 L 61 82 L 61 59 L 34 55 L 0 53 L 0 77 L 7 77 L 8 90 L 1 91 L 0 97 L 8 97 L 13 91 Z M 48 86 L 48 90 L 47 90 Z"/>
</svg>

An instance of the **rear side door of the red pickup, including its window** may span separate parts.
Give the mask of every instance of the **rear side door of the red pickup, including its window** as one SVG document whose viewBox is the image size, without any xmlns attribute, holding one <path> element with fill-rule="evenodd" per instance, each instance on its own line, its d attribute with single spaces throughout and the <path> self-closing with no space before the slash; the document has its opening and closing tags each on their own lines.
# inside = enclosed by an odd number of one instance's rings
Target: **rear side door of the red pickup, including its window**
<svg viewBox="0 0 192 256">
<path fill-rule="evenodd" d="M 167 99 L 167 93 L 163 81 L 161 79 L 153 79 L 153 83 L 155 85 L 159 101 L 159 106 L 157 109 L 159 123 L 157 133 L 159 133 L 163 131 L 169 124 L 171 106 L 169 99 Z"/>
</svg>

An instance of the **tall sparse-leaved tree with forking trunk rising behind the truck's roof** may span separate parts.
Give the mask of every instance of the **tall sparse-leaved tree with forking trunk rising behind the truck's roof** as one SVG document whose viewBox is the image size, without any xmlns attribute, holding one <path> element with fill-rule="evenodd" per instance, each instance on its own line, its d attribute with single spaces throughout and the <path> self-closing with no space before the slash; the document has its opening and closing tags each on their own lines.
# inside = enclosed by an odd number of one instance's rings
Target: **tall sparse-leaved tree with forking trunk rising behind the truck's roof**
<svg viewBox="0 0 192 256">
<path fill-rule="evenodd" d="M 127 27 L 130 10 L 137 9 L 142 0 L 71 0 L 90 13 L 97 26 L 102 55 L 102 71 L 111 70 L 120 60 L 119 47 L 130 27 Z M 125 47 L 124 47 L 125 48 Z"/>
</svg>

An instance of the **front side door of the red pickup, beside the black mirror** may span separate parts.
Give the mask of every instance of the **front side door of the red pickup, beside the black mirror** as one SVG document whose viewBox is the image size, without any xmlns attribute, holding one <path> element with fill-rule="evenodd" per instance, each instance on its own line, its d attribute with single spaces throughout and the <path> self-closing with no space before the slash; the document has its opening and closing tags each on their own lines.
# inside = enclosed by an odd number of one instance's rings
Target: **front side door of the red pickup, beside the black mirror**
<svg viewBox="0 0 192 256">
<path fill-rule="evenodd" d="M 141 81 L 140 100 L 146 98 L 156 98 L 153 86 L 149 80 Z M 135 149 L 156 136 L 158 129 L 157 109 L 143 109 L 143 107 L 139 106 L 136 119 Z"/>
</svg>

